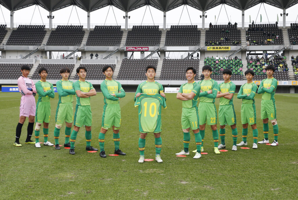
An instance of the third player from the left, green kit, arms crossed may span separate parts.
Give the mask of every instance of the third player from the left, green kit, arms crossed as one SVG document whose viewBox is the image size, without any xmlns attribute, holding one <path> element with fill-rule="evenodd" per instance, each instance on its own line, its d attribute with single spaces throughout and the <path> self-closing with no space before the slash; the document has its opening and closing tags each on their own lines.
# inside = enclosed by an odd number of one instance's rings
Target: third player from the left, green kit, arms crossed
<svg viewBox="0 0 298 200">
<path fill-rule="evenodd" d="M 59 94 L 59 101 L 56 110 L 56 125 L 54 130 L 55 139 L 55 149 L 60 149 L 59 146 L 59 135 L 62 123 L 65 121 L 65 143 L 64 147 L 70 147 L 69 138 L 72 130 L 73 122 L 73 96 L 75 95 L 75 89 L 73 87 L 73 82 L 68 80 L 70 70 L 68 67 L 62 67 L 60 70 L 60 75 L 62 80 L 56 83 L 57 91 Z"/>
</svg>

